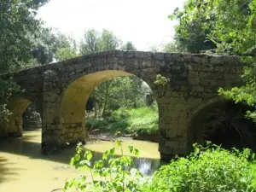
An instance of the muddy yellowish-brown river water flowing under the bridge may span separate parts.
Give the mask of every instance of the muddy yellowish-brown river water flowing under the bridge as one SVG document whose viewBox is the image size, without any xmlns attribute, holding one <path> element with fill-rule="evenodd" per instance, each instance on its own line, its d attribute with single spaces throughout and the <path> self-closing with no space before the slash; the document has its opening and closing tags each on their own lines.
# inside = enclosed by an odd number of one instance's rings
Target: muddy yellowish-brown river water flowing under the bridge
<svg viewBox="0 0 256 192">
<path fill-rule="evenodd" d="M 139 149 L 137 168 L 144 175 L 151 175 L 160 167 L 158 143 L 124 140 L 124 154 L 128 145 Z M 114 146 L 111 142 L 86 144 L 99 158 L 105 150 Z M 61 189 L 66 179 L 79 176 L 79 171 L 69 166 L 75 148 L 65 148 L 61 154 L 41 154 L 41 130 L 24 131 L 23 137 L 0 141 L 0 191 L 2 192 L 50 192 Z"/>
</svg>

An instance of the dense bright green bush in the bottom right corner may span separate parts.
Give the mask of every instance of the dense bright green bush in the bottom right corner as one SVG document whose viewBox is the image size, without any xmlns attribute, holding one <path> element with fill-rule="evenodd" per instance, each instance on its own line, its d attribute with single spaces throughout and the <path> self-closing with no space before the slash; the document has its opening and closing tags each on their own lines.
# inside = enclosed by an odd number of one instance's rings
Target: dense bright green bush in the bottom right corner
<svg viewBox="0 0 256 192">
<path fill-rule="evenodd" d="M 172 160 L 154 172 L 152 183 L 143 191 L 173 192 L 251 192 L 256 190 L 255 154 L 219 146 L 194 145 L 186 158 Z"/>
</svg>

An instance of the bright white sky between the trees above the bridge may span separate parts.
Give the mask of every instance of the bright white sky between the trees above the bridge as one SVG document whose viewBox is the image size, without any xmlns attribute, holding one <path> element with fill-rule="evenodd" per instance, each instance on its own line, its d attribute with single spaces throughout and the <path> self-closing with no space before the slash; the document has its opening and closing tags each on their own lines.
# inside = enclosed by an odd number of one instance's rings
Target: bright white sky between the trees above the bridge
<svg viewBox="0 0 256 192">
<path fill-rule="evenodd" d="M 166 44 L 173 39 L 177 21 L 167 18 L 183 8 L 185 0 L 50 0 L 38 10 L 46 26 L 79 40 L 85 29 L 112 31 L 137 50 Z"/>
</svg>

